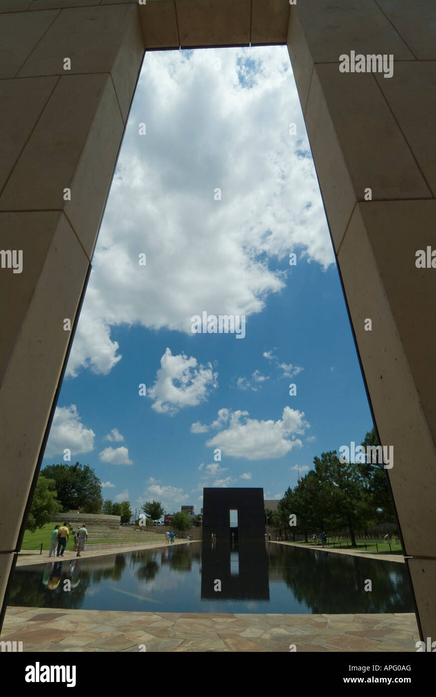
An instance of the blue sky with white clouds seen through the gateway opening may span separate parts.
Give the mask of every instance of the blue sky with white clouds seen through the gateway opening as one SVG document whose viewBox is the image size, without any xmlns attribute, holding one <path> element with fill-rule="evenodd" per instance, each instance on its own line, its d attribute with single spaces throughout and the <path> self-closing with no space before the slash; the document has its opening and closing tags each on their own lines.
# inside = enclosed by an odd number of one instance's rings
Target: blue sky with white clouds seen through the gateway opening
<svg viewBox="0 0 436 697">
<path fill-rule="evenodd" d="M 204 311 L 246 336 L 193 334 Z M 200 512 L 371 427 L 286 47 L 146 54 L 43 467 L 69 448 L 104 498 Z"/>
</svg>

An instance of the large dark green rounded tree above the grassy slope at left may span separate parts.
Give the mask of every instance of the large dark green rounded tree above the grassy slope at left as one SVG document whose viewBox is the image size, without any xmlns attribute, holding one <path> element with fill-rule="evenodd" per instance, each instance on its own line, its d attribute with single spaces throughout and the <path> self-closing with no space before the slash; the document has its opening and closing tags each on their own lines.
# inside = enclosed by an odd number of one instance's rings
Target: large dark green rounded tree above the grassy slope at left
<svg viewBox="0 0 436 697">
<path fill-rule="evenodd" d="M 83 508 L 87 513 L 100 512 L 103 504 L 101 482 L 88 465 L 79 462 L 48 465 L 41 475 L 54 480 L 63 511 Z"/>
</svg>

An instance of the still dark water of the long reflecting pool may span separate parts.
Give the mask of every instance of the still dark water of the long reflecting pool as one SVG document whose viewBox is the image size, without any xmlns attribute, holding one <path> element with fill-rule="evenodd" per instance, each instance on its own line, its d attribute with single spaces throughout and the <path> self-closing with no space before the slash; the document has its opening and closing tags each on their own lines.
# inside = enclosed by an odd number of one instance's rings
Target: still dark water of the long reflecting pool
<svg viewBox="0 0 436 697">
<path fill-rule="evenodd" d="M 90 559 L 84 555 L 18 567 L 8 604 L 218 613 L 414 611 L 406 567 L 398 562 L 269 542 L 234 549 L 192 542 Z M 370 592 L 364 590 L 368 579 Z M 215 590 L 219 585 L 221 590 Z"/>
</svg>

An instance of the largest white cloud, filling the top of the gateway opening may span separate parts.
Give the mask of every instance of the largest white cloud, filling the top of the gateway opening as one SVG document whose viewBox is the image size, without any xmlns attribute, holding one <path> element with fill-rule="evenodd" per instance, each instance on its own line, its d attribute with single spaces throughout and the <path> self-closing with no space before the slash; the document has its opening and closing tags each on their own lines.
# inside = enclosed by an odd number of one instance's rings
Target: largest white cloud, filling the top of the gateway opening
<svg viewBox="0 0 436 697">
<path fill-rule="evenodd" d="M 334 263 L 286 47 L 146 54 L 67 375 L 108 374 L 118 325 L 192 336 L 203 310 L 255 321 L 292 273 L 292 250 L 298 263 Z"/>
</svg>

